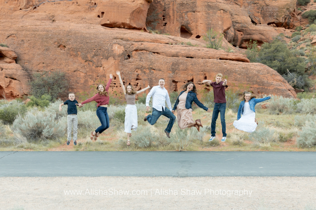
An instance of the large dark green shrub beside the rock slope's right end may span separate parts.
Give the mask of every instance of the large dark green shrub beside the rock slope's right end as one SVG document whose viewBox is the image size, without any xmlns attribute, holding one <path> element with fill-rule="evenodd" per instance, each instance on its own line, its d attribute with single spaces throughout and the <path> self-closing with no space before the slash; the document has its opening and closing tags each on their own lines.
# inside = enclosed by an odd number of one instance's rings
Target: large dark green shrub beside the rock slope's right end
<svg viewBox="0 0 316 210">
<path fill-rule="evenodd" d="M 291 51 L 280 37 L 275 37 L 271 43 L 264 43 L 259 51 L 257 61 L 276 70 L 283 75 L 295 72 L 300 75 L 305 73 L 305 61 Z"/>
</svg>

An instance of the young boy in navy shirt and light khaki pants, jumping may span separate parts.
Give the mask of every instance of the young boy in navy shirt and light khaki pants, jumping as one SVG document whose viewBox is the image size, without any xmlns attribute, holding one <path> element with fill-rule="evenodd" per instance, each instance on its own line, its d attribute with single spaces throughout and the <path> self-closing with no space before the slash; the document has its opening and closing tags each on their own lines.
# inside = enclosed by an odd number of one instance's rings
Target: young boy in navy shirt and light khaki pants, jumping
<svg viewBox="0 0 316 210">
<path fill-rule="evenodd" d="M 59 105 L 59 111 L 61 111 L 61 106 L 62 105 L 68 105 L 68 117 L 67 117 L 67 122 L 68 122 L 68 128 L 67 128 L 67 133 L 68 133 L 68 137 L 67 137 L 67 145 L 70 144 L 70 140 L 71 140 L 71 130 L 73 128 L 74 132 L 73 132 L 73 141 L 74 141 L 74 145 L 77 145 L 77 130 L 78 130 L 78 117 L 77 117 L 77 105 L 78 101 L 75 100 L 75 94 L 74 93 L 69 93 L 68 94 L 68 98 L 69 100 L 66 100 L 64 103 Z M 79 108 L 81 108 L 84 105 L 79 106 Z M 72 128 L 71 128 L 72 127 Z"/>
</svg>

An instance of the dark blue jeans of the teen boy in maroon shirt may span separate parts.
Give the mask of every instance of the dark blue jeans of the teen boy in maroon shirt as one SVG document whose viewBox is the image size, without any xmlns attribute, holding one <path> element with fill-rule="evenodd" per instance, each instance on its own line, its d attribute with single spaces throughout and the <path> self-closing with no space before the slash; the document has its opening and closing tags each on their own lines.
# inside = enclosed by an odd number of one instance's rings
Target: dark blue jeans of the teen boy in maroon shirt
<svg viewBox="0 0 316 210">
<path fill-rule="evenodd" d="M 221 113 L 221 123 L 222 123 L 222 133 L 223 137 L 227 136 L 226 133 L 226 122 L 225 122 L 225 111 L 226 111 L 226 103 L 215 103 L 212 115 L 212 123 L 211 123 L 211 136 L 215 136 L 215 128 L 216 128 L 216 120 L 218 117 L 218 113 Z"/>
</svg>

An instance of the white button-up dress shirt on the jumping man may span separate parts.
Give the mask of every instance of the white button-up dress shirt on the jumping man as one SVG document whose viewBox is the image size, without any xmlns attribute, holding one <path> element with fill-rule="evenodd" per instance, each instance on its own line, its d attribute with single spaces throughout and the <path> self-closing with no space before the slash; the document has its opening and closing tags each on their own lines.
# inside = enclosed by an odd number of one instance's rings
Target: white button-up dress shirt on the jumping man
<svg viewBox="0 0 316 210">
<path fill-rule="evenodd" d="M 146 97 L 146 106 L 149 106 L 150 97 L 153 97 L 153 108 L 156 110 L 162 111 L 162 107 L 163 110 L 166 110 L 166 100 L 169 109 L 172 109 L 169 94 L 166 88 L 161 88 L 159 85 L 151 88 L 149 94 Z"/>
</svg>

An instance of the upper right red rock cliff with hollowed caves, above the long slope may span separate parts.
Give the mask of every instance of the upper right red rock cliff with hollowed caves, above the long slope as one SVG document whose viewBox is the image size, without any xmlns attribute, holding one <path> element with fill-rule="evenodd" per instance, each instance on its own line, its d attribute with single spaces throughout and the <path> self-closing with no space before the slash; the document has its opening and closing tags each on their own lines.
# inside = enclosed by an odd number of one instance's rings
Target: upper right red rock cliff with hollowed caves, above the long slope
<svg viewBox="0 0 316 210">
<path fill-rule="evenodd" d="M 224 33 L 234 46 L 257 40 L 259 46 L 278 32 L 268 25 L 292 28 L 299 25 L 296 0 L 157 0 L 151 3 L 147 25 L 190 39 L 199 39 L 209 28 Z"/>
</svg>

